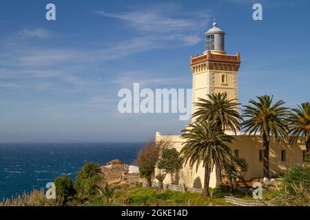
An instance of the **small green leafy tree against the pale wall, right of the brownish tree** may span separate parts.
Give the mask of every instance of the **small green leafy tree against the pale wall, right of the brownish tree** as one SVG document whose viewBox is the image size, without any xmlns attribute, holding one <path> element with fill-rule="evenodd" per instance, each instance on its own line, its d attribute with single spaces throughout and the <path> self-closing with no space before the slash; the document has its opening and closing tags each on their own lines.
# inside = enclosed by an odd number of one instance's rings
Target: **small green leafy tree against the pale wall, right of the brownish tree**
<svg viewBox="0 0 310 220">
<path fill-rule="evenodd" d="M 171 177 L 182 168 L 182 160 L 178 155 L 176 148 L 166 148 L 163 150 L 161 159 L 157 164 L 158 172 L 156 179 L 158 179 L 158 190 L 163 190 L 163 181 L 167 174 Z"/>
</svg>

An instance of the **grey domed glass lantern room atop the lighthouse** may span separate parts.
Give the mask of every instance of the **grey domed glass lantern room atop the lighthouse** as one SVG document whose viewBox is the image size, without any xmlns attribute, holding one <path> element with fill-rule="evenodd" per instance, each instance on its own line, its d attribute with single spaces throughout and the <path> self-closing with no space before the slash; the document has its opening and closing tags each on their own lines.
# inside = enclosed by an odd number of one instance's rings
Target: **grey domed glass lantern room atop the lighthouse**
<svg viewBox="0 0 310 220">
<path fill-rule="evenodd" d="M 225 53 L 225 32 L 217 27 L 215 19 L 213 27 L 205 32 L 205 50 Z"/>
</svg>

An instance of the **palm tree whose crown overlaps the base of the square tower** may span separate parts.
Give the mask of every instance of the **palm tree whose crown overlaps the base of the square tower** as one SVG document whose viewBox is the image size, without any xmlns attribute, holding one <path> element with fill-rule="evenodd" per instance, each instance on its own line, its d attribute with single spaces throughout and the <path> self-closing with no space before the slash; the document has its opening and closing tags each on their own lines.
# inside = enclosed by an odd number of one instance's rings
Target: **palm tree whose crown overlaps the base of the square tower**
<svg viewBox="0 0 310 220">
<path fill-rule="evenodd" d="M 218 129 L 229 129 L 236 135 L 240 130 L 241 115 L 238 113 L 237 99 L 228 100 L 226 93 L 207 94 L 207 99 L 199 98 L 195 103 L 198 107 L 193 114 L 193 118 L 197 117 L 198 122 L 214 121 Z M 216 186 L 222 184 L 222 167 L 216 164 Z"/>
</svg>

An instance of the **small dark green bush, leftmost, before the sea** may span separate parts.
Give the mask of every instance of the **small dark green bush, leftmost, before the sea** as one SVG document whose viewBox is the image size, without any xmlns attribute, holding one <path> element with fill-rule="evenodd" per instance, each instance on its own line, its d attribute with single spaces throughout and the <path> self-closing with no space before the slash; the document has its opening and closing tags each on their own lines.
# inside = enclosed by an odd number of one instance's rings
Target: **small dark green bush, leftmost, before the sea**
<svg viewBox="0 0 310 220">
<path fill-rule="evenodd" d="M 74 196 L 72 180 L 69 176 L 60 176 L 54 179 L 56 187 L 56 203 L 58 206 L 64 206 L 68 198 Z"/>
</svg>

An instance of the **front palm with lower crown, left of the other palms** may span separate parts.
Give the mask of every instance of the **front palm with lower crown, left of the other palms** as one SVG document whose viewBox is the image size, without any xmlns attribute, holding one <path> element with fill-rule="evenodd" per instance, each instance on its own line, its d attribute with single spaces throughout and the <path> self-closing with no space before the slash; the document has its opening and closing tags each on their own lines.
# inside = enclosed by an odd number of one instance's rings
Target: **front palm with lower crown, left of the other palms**
<svg viewBox="0 0 310 220">
<path fill-rule="evenodd" d="M 203 195 L 207 196 L 214 164 L 223 166 L 225 162 L 234 159 L 234 152 L 226 145 L 227 142 L 232 142 L 234 137 L 219 130 L 216 122 L 207 121 L 190 124 L 182 132 L 184 132 L 182 137 L 186 139 L 186 142 L 180 150 L 180 157 L 184 159 L 185 164 L 189 162 L 191 167 L 196 163 L 196 172 L 203 162 L 205 168 Z"/>
</svg>

